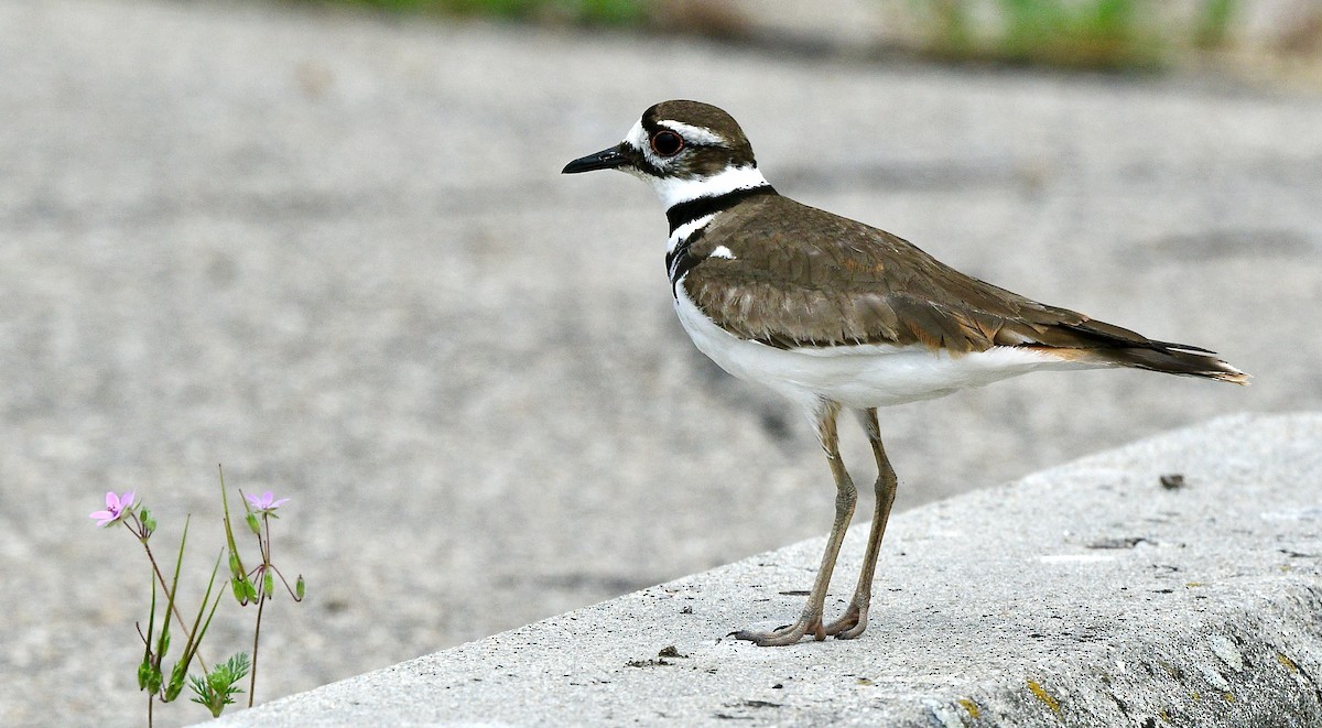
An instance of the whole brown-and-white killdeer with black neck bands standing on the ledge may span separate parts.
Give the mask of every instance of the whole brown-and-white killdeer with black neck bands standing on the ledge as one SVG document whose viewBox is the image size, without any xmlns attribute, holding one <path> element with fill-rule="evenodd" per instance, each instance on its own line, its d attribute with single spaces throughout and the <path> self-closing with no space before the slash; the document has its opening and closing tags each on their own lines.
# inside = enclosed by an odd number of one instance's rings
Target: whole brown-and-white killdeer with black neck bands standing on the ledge
<svg viewBox="0 0 1322 728">
<path fill-rule="evenodd" d="M 683 329 L 730 374 L 797 403 L 816 424 L 836 478 L 836 522 L 808 605 L 795 624 L 732 633 L 739 639 L 849 639 L 867 628 L 896 488 L 878 407 L 1047 369 L 1248 379 L 1206 349 L 1039 304 L 960 273 L 884 230 L 780 196 L 758 170 L 739 124 L 710 104 L 658 103 L 624 141 L 563 172 L 594 169 L 620 169 L 652 185 L 670 222 L 666 267 Z M 854 596 L 843 616 L 824 624 L 857 499 L 836 429 L 846 408 L 858 412 L 876 458 L 876 509 Z"/>
</svg>

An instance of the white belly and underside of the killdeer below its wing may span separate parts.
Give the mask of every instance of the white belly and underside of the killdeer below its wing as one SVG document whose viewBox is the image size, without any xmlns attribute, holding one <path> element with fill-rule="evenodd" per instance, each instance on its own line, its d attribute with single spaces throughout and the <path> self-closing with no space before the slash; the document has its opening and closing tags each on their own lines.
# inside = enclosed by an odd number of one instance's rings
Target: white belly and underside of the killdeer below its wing
<svg viewBox="0 0 1322 728">
<path fill-rule="evenodd" d="M 887 407 L 990 384 L 1040 369 L 1091 369 L 1031 349 L 997 346 L 951 357 L 914 346 L 857 345 L 776 349 L 717 326 L 676 287 L 676 313 L 698 349 L 720 369 L 813 408 L 822 399 L 846 407 Z"/>
</svg>

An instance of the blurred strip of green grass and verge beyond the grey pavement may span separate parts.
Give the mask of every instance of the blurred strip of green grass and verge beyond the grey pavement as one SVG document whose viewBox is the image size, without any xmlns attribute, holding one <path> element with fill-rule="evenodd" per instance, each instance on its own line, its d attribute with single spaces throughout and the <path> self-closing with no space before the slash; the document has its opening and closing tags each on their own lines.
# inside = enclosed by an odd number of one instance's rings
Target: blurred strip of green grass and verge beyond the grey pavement
<svg viewBox="0 0 1322 728">
<path fill-rule="evenodd" d="M 1076 70 L 1202 69 L 1317 82 L 1317 0 L 337 0 L 440 18 L 497 18 L 705 37 L 894 61 Z"/>
</svg>

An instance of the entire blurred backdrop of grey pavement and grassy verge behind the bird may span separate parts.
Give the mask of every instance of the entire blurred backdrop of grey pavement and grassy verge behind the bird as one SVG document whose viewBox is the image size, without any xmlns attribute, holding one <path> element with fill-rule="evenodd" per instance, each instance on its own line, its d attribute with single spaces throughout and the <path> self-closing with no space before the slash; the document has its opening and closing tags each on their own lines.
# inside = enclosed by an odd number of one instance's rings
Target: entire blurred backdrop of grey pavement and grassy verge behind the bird
<svg viewBox="0 0 1322 728">
<path fill-rule="evenodd" d="M 559 174 L 669 98 L 785 194 L 1255 375 L 883 411 L 899 509 L 1322 407 L 1315 0 L 3 0 L 0 69 L 5 725 L 141 723 L 145 559 L 87 514 L 136 490 L 169 554 L 190 513 L 193 609 L 217 464 L 291 498 L 308 580 L 259 702 L 824 534 L 806 423 L 674 320 L 652 193 Z"/>
</svg>

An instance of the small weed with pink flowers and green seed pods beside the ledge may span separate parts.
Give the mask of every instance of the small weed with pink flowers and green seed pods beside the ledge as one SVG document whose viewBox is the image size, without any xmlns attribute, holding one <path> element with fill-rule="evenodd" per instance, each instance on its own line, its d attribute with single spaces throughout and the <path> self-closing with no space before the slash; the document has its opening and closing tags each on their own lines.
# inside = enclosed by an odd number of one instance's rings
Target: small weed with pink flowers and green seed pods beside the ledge
<svg viewBox="0 0 1322 728">
<path fill-rule="evenodd" d="M 295 587 L 290 587 L 284 575 L 271 562 L 271 519 L 276 518 L 275 510 L 288 502 L 288 498 L 275 498 L 271 491 L 262 495 L 245 495 L 245 521 L 249 530 L 256 538 L 260 552 L 260 564 L 251 571 L 243 569 L 238 546 L 234 539 L 234 530 L 230 523 L 229 499 L 225 494 L 225 476 L 221 473 L 221 502 L 225 509 L 226 548 L 222 550 L 212 567 L 212 575 L 206 583 L 206 593 L 197 609 L 197 614 L 189 622 L 178 608 L 177 592 L 180 571 L 184 563 L 184 548 L 188 543 L 188 527 L 192 517 L 184 521 L 184 534 L 180 538 L 178 550 L 175 558 L 173 576 L 167 580 L 152 551 L 152 534 L 156 531 L 156 518 L 145 505 L 136 501 L 136 494 L 130 490 L 123 494 L 114 491 L 106 494 L 106 509 L 90 514 L 97 521 L 97 526 L 106 528 L 123 525 L 147 554 L 151 564 L 151 608 L 147 616 L 147 630 L 137 625 L 137 637 L 143 643 L 143 659 L 137 666 L 137 687 L 147 692 L 147 724 L 153 720 L 153 707 L 156 702 L 171 703 L 178 698 L 186 684 L 196 695 L 192 700 L 205 706 L 212 711 L 213 717 L 218 717 L 226 706 L 234 703 L 234 695 L 243 692 L 239 683 L 245 676 L 249 680 L 249 706 L 256 688 L 256 653 L 260 645 L 262 613 L 266 601 L 272 599 L 275 592 L 275 577 L 284 584 L 293 601 L 303 601 L 305 585 L 300 575 L 295 580 Z M 221 558 L 229 554 L 230 589 L 239 605 L 256 604 L 256 621 L 253 629 L 253 658 L 247 653 L 237 653 L 227 661 L 208 670 L 206 661 L 201 655 L 202 638 L 212 625 L 212 618 L 219 606 L 222 593 L 215 593 L 215 576 L 219 573 Z M 161 612 L 160 632 L 157 632 L 157 604 L 159 595 L 165 593 L 165 608 Z M 171 617 L 184 634 L 182 654 L 173 666 L 165 666 L 165 657 L 169 654 L 172 642 Z M 193 659 L 197 659 L 202 669 L 202 675 L 188 673 Z"/>
</svg>

